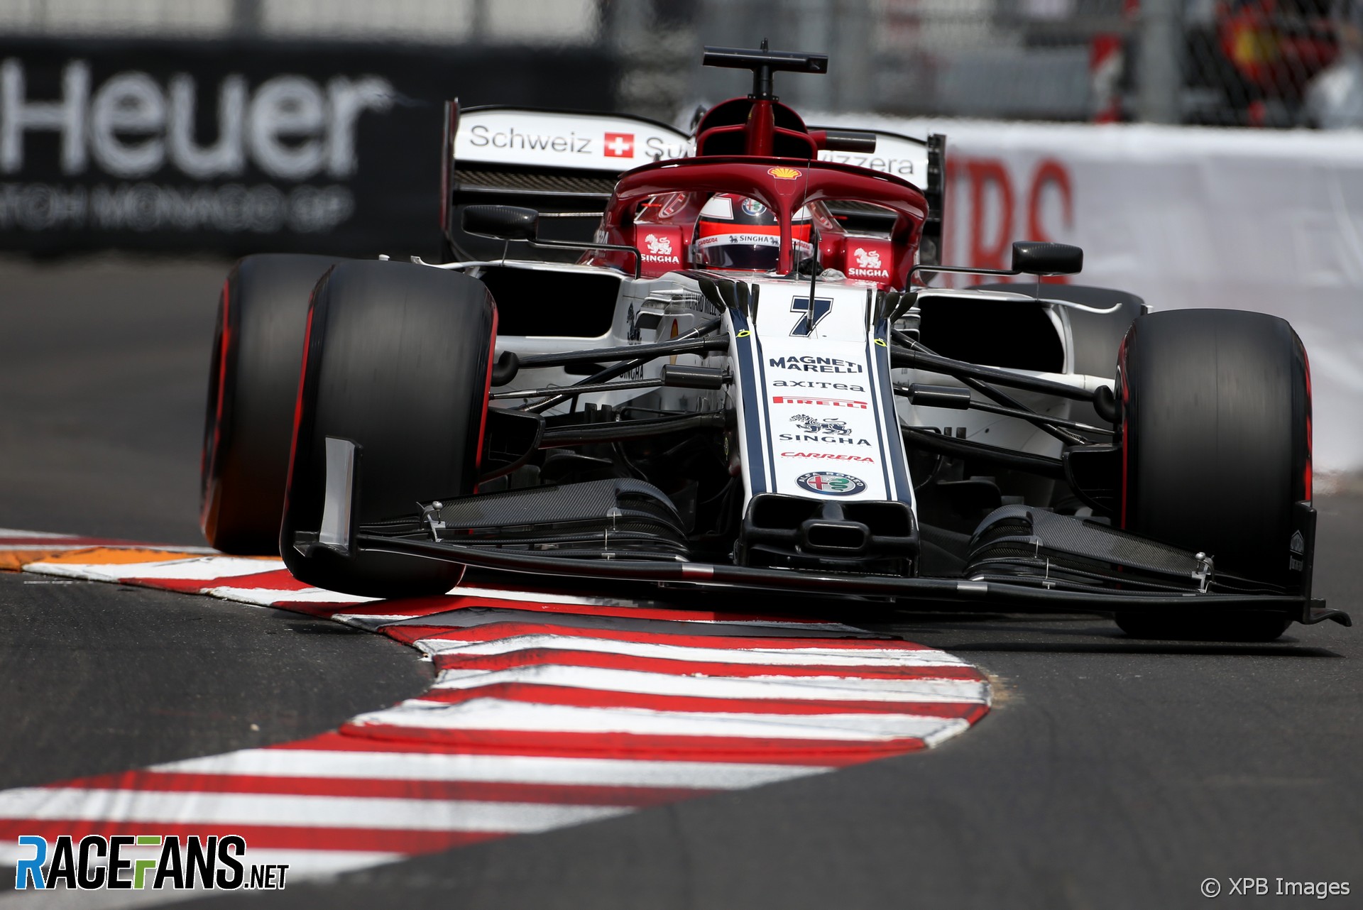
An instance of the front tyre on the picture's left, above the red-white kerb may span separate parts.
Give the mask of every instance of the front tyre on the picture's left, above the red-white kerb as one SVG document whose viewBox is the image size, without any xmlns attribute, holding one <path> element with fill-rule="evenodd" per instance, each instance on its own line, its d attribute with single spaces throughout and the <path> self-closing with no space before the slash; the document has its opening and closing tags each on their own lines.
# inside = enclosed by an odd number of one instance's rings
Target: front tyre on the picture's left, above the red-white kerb
<svg viewBox="0 0 1363 910">
<path fill-rule="evenodd" d="M 343 262 L 319 282 L 308 315 L 279 550 L 308 584 L 364 597 L 442 594 L 459 565 L 294 546 L 322 524 L 326 439 L 361 448 L 357 522 L 410 516 L 418 501 L 468 496 L 478 475 L 496 307 L 459 272 Z"/>
</svg>

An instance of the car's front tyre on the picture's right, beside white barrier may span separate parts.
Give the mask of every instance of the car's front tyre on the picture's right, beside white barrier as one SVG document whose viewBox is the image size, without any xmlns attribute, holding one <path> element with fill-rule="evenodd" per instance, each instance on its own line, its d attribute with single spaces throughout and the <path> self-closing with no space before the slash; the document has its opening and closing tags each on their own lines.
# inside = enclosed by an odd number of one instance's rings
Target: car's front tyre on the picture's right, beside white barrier
<svg viewBox="0 0 1363 910">
<path fill-rule="evenodd" d="M 1295 504 L 1311 497 L 1306 351 L 1287 321 L 1228 309 L 1135 320 L 1118 356 L 1122 526 L 1205 552 L 1217 572 L 1299 590 Z M 1118 613 L 1138 638 L 1268 642 L 1277 613 Z"/>
</svg>

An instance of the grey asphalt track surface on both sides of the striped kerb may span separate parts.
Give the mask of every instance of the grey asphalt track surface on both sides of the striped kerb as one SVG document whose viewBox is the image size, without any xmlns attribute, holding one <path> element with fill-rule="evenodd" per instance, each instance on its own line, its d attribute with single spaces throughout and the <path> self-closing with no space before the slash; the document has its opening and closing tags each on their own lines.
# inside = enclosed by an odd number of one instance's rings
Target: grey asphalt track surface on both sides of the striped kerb
<svg viewBox="0 0 1363 910">
<path fill-rule="evenodd" d="M 199 542 L 225 268 L 0 263 L 0 526 Z M 1318 505 L 1317 590 L 1363 614 L 1363 497 Z M 41 582 L 0 575 L 0 787 L 297 738 L 428 680 L 413 651 L 320 621 Z M 1265 876 L 1349 881 L 1352 894 L 1326 906 L 1363 906 L 1363 629 L 1293 627 L 1244 646 L 1131 640 L 1093 617 L 901 616 L 882 628 L 983 666 L 995 711 L 927 753 L 251 899 L 337 910 L 1315 903 L 1272 887 L 1225 894 L 1232 876 Z M 1209 876 L 1224 888 L 1214 902 L 1198 892 Z M 195 906 L 218 900 L 249 902 Z"/>
</svg>

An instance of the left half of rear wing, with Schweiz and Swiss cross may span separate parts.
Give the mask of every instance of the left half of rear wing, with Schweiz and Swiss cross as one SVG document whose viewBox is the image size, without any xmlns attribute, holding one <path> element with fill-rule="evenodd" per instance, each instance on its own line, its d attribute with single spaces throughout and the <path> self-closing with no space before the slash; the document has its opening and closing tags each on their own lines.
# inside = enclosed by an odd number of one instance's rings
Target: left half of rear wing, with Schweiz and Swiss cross
<svg viewBox="0 0 1363 910">
<path fill-rule="evenodd" d="M 447 252 L 455 259 L 502 255 L 499 241 L 461 227 L 465 206 L 488 203 L 537 208 L 545 240 L 589 242 L 620 174 L 690 154 L 688 135 L 646 117 L 503 106 L 459 110 L 459 102 L 450 101 L 440 180 Z M 551 251 L 534 253 L 552 257 Z"/>
</svg>

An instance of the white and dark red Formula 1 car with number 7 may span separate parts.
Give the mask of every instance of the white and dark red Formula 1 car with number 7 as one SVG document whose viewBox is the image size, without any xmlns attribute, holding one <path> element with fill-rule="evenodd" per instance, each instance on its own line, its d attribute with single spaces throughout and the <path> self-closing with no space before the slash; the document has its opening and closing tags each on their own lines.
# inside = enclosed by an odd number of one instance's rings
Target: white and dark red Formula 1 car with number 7
<svg viewBox="0 0 1363 910">
<path fill-rule="evenodd" d="M 751 69 L 752 93 L 691 135 L 451 102 L 451 262 L 239 262 L 209 542 L 372 597 L 473 567 L 1112 613 L 1149 638 L 1348 624 L 1311 597 L 1310 375 L 1288 323 L 934 287 L 1071 275 L 1082 252 L 940 264 L 942 136 L 807 127 L 773 74 L 822 74 L 821 54 L 705 63 Z"/>
</svg>

